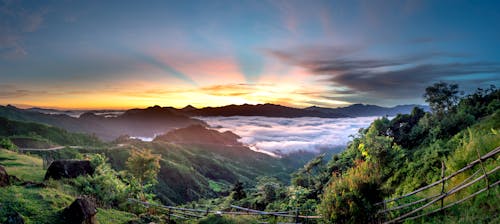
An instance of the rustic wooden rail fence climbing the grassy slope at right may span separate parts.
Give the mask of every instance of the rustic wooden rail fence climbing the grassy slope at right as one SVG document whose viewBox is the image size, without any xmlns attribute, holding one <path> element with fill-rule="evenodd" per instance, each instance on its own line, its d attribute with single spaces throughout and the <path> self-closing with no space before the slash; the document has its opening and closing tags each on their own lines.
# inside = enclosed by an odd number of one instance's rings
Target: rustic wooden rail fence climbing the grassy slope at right
<svg viewBox="0 0 500 224">
<path fill-rule="evenodd" d="M 478 159 L 470 162 L 469 164 L 464 166 L 462 169 L 460 169 L 460 170 L 458 170 L 458 171 L 456 171 L 456 172 L 454 172 L 446 177 L 444 176 L 444 170 L 445 170 L 444 163 L 441 163 L 441 179 L 440 180 L 438 180 L 434 183 L 431 183 L 427 186 L 421 187 L 421 188 L 419 188 L 415 191 L 412 191 L 410 193 L 407 193 L 405 195 L 402 195 L 400 197 L 396 197 L 396 198 L 392 198 L 392 199 L 388 199 L 388 200 L 384 200 L 382 202 L 376 203 L 375 204 L 376 206 L 383 206 L 383 208 L 381 210 L 379 210 L 378 214 L 382 215 L 382 217 L 386 221 L 384 221 L 384 220 L 381 220 L 381 221 L 383 223 L 389 224 L 389 223 L 398 223 L 398 222 L 403 222 L 404 220 L 412 220 L 412 219 L 417 219 L 417 218 L 421 218 L 424 216 L 428 216 L 428 215 L 434 214 L 436 212 L 444 211 L 447 208 L 450 208 L 454 205 L 460 204 L 468 199 L 471 199 L 471 198 L 479 195 L 482 192 L 485 192 L 485 191 L 491 189 L 492 187 L 497 186 L 498 184 L 500 184 L 500 180 L 497 180 L 497 181 L 491 183 L 490 181 L 492 181 L 492 180 L 490 180 L 488 178 L 488 176 L 497 172 L 500 169 L 500 166 L 497 165 L 495 168 L 491 169 L 490 171 L 486 171 L 486 168 L 483 164 L 483 161 L 485 161 L 489 158 L 494 158 L 499 152 L 500 152 L 500 147 L 495 148 L 494 150 L 486 153 L 483 156 L 481 156 L 479 154 L 479 151 L 478 151 L 478 153 L 477 153 Z M 469 169 L 472 169 L 473 167 L 475 167 L 478 164 L 480 165 L 480 169 L 478 169 L 474 174 L 472 174 L 471 176 L 469 176 L 468 178 L 466 178 L 465 180 L 463 180 L 462 182 L 460 182 L 456 186 L 452 187 L 450 190 L 445 191 L 445 182 L 446 181 L 450 180 L 451 178 L 457 176 L 460 173 L 463 173 Z M 482 174 L 482 175 L 480 175 L 480 174 Z M 480 176 L 477 177 L 478 175 L 480 175 Z M 478 190 L 478 191 L 476 191 L 476 192 L 474 192 L 474 193 L 472 193 L 472 194 L 470 194 L 470 195 L 468 195 L 468 196 L 466 196 L 458 201 L 449 203 L 447 205 L 444 204 L 445 198 L 459 192 L 460 190 L 463 190 L 465 188 L 472 186 L 473 184 L 477 183 L 480 180 L 485 180 L 486 187 L 484 187 L 484 188 L 482 188 L 482 189 L 480 189 L 480 190 Z M 441 185 L 441 192 L 439 194 L 434 194 L 434 195 L 431 195 L 431 196 L 428 196 L 426 198 L 422 198 L 422 199 L 419 199 L 419 200 L 416 200 L 413 202 L 408 202 L 408 203 L 405 203 L 402 205 L 396 205 L 394 207 L 388 208 L 389 203 L 396 203 L 397 201 L 399 201 L 401 199 L 408 198 L 408 197 L 413 196 L 419 192 L 422 192 L 424 190 L 428 190 L 432 187 L 438 187 L 439 185 Z M 419 204 L 424 203 L 424 202 L 427 202 L 427 203 L 425 203 L 425 204 L 421 205 L 420 207 L 415 208 L 411 211 L 406 211 L 402 215 L 399 215 L 395 218 L 389 219 L 389 215 L 393 212 L 402 211 L 404 209 L 411 208 L 411 206 L 419 205 Z M 440 203 L 439 208 L 424 212 L 425 208 L 428 208 L 435 203 Z M 417 214 L 419 212 L 421 212 L 421 214 Z"/>
</svg>

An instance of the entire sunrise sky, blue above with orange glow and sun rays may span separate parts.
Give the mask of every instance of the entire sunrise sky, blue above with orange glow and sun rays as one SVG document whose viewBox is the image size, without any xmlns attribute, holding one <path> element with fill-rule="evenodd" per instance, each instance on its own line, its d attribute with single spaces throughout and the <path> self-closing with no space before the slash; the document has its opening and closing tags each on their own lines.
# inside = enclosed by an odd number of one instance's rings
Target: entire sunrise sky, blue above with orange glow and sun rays
<svg viewBox="0 0 500 224">
<path fill-rule="evenodd" d="M 499 1 L 0 0 L 0 104 L 422 104 L 500 86 Z"/>
</svg>

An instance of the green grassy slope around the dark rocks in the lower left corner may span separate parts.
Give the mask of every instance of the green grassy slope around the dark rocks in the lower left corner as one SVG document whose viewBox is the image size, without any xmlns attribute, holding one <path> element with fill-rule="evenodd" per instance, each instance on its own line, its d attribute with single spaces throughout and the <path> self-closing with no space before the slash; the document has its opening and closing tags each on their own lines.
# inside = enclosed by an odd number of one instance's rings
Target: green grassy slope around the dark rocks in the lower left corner
<svg viewBox="0 0 500 224">
<path fill-rule="evenodd" d="M 15 175 L 24 181 L 41 181 L 45 175 L 42 160 L 37 157 L 22 155 L 0 149 L 0 165 L 9 175 Z M 49 184 L 50 185 L 50 184 Z M 69 195 L 56 188 L 25 188 L 9 186 L 0 188 L 0 223 L 9 212 L 17 211 L 26 223 L 58 223 L 59 213 L 69 206 L 75 195 Z M 99 223 L 126 223 L 135 216 L 112 209 L 99 209 Z"/>
</svg>

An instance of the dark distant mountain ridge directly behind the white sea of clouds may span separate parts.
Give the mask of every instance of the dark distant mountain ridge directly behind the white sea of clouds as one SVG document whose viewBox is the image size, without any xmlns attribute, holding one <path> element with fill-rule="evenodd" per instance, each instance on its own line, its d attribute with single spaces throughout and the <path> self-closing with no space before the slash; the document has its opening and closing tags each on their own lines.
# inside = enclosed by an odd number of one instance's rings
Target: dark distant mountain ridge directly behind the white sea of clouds
<svg viewBox="0 0 500 224">
<path fill-rule="evenodd" d="M 364 116 L 395 116 L 399 113 L 410 113 L 414 107 L 421 107 L 428 110 L 427 106 L 422 105 L 398 105 L 395 107 L 381 107 L 367 104 L 353 104 L 347 107 L 325 108 L 325 107 L 307 107 L 304 109 L 286 107 L 276 104 L 243 104 L 228 105 L 222 107 L 205 107 L 196 109 L 194 107 L 185 107 L 176 109 L 177 112 L 188 116 L 264 116 L 264 117 L 322 117 L 322 118 L 340 118 L 340 117 L 364 117 Z"/>
</svg>

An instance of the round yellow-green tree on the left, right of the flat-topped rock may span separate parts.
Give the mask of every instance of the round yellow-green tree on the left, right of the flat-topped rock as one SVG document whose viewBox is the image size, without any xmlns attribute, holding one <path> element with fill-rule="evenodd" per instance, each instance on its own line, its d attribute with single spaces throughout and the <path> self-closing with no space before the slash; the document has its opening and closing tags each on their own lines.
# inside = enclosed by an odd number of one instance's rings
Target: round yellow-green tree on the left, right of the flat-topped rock
<svg viewBox="0 0 500 224">
<path fill-rule="evenodd" d="M 160 171 L 160 155 L 151 150 L 132 150 L 126 162 L 127 172 L 137 179 L 140 185 L 156 183 Z"/>
</svg>

